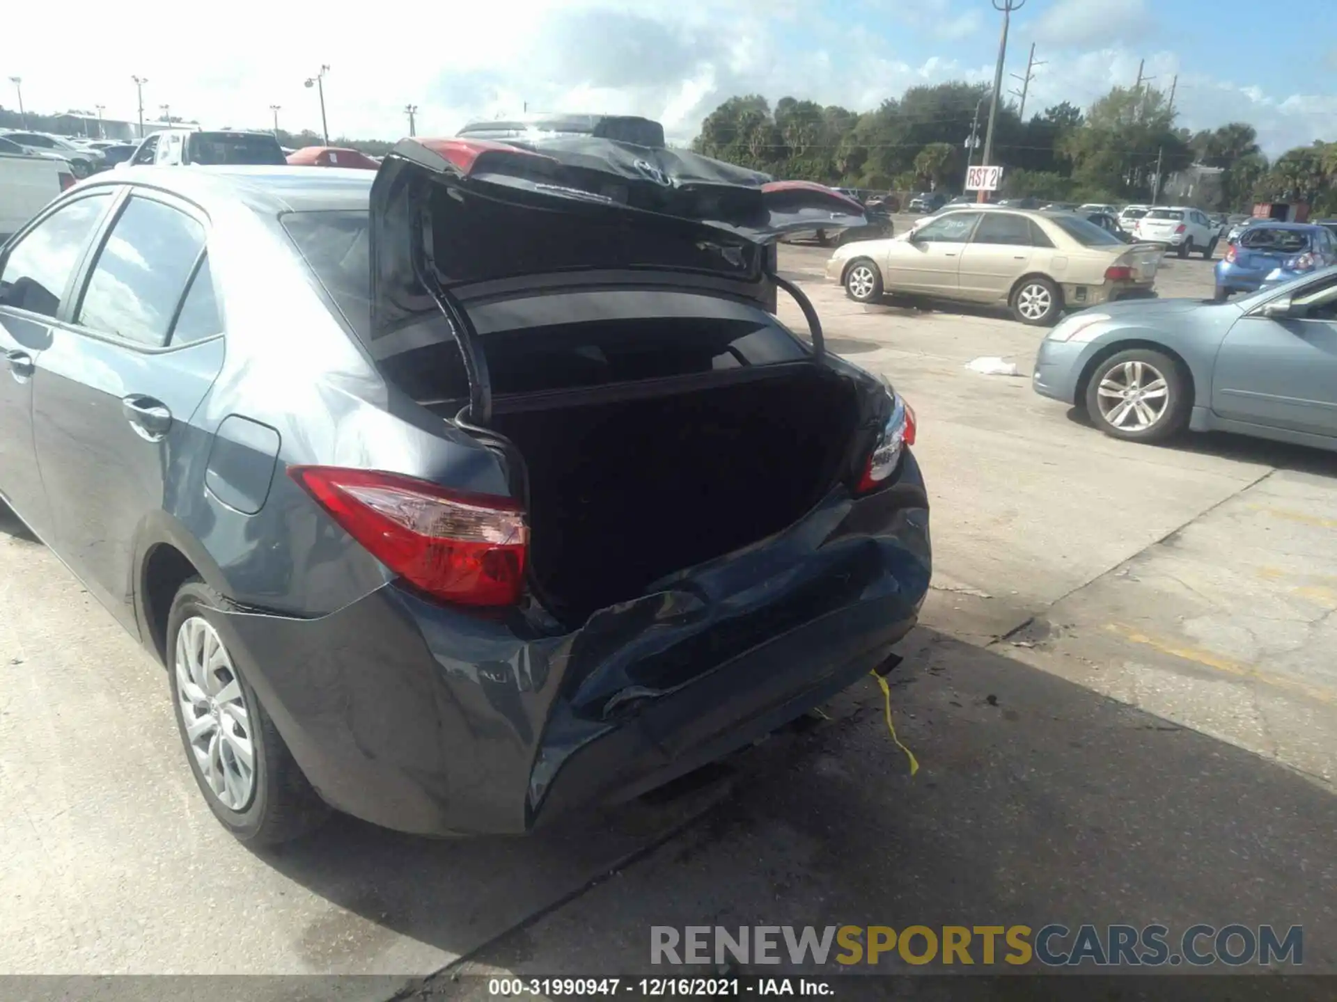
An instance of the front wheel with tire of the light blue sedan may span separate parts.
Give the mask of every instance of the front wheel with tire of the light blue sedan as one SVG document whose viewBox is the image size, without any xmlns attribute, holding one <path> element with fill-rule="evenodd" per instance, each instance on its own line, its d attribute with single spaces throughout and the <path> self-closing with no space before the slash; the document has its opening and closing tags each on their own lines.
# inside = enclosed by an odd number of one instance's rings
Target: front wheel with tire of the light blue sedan
<svg viewBox="0 0 1337 1002">
<path fill-rule="evenodd" d="M 1131 395 L 1130 390 L 1142 390 Z M 1146 347 L 1102 361 L 1086 387 L 1091 421 L 1111 438 L 1163 442 L 1189 424 L 1189 377 L 1179 363 Z M 1140 405 L 1140 406 L 1139 406 Z"/>
</svg>

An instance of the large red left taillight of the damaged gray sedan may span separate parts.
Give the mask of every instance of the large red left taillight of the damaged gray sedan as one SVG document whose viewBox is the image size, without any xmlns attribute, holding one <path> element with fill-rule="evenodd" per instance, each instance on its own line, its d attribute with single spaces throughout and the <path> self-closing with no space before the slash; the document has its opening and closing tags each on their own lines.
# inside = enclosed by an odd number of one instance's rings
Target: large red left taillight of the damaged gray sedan
<svg viewBox="0 0 1337 1002">
<path fill-rule="evenodd" d="M 511 605 L 529 529 L 507 497 L 447 490 L 380 470 L 290 466 L 349 536 L 416 588 L 461 605 Z"/>
</svg>

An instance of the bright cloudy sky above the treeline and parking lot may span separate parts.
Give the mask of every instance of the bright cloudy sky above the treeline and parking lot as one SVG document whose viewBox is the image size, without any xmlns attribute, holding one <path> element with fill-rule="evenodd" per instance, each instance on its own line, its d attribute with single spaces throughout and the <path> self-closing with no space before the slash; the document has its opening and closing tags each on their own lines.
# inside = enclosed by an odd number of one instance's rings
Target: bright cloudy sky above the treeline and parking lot
<svg viewBox="0 0 1337 1002">
<path fill-rule="evenodd" d="M 1039 110 L 1087 106 L 1131 84 L 1144 59 L 1157 86 L 1179 75 L 1182 124 L 1250 122 L 1275 155 L 1337 139 L 1337 3 L 1302 8 L 1302 31 L 1273 32 L 1257 0 L 1025 0 L 1007 69 L 1024 72 L 1036 44 L 1044 65 L 1028 107 Z M 32 111 L 103 104 L 108 118 L 132 120 L 139 75 L 146 118 L 168 104 L 207 126 L 266 127 L 278 104 L 281 126 L 318 131 L 317 95 L 302 83 L 329 64 L 332 135 L 404 135 L 412 102 L 420 135 L 527 104 L 647 115 L 690 139 L 734 94 L 866 110 L 916 83 L 991 80 L 1001 25 L 991 0 L 135 0 L 118 8 L 127 16 L 106 11 L 64 0 L 63 23 L 98 29 L 3 47 L 0 88 L 20 76 Z M 9 37 L 52 28 L 45 4 L 5 12 Z M 15 107 L 12 87 L 0 104 Z"/>
</svg>

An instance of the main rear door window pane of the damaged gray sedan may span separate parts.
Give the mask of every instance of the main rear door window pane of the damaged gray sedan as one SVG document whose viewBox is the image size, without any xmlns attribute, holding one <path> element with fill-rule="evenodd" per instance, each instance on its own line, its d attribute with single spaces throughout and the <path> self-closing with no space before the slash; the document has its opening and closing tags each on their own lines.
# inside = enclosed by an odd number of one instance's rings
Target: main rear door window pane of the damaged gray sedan
<svg viewBox="0 0 1337 1002">
<path fill-rule="evenodd" d="M 98 255 L 76 322 L 160 347 L 203 247 L 205 227 L 195 219 L 131 198 Z"/>
</svg>

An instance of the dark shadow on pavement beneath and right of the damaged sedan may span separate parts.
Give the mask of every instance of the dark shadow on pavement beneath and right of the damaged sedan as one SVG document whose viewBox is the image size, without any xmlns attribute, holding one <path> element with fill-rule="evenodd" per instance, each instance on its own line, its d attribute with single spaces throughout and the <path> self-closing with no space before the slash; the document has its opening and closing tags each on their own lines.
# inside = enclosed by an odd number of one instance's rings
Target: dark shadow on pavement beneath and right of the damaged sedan
<svg viewBox="0 0 1337 1002">
<path fill-rule="evenodd" d="M 524 921 L 475 957 L 528 974 L 664 974 L 648 963 L 651 925 L 1050 922 L 1158 922 L 1171 946 L 1199 922 L 1304 925 L 1305 970 L 1337 971 L 1330 790 L 993 649 L 928 629 L 905 647 L 893 705 L 923 764 L 915 779 L 878 691 L 856 685 L 830 721 L 737 756 L 735 792 L 703 820 L 683 810 L 679 834 L 547 914 L 535 916 L 544 883 L 579 867 L 588 842 L 666 808 L 606 812 L 584 834 L 460 843 L 344 822 L 271 862 L 451 953 L 476 950 L 503 916 Z M 1034 997 L 1023 986 L 1017 997 Z M 464 990 L 448 978 L 433 989 Z M 951 983 L 935 993 L 923 997 L 952 995 Z M 1309 994 L 1290 985 L 1285 997 Z"/>
</svg>

